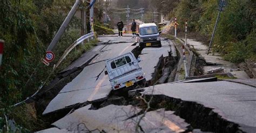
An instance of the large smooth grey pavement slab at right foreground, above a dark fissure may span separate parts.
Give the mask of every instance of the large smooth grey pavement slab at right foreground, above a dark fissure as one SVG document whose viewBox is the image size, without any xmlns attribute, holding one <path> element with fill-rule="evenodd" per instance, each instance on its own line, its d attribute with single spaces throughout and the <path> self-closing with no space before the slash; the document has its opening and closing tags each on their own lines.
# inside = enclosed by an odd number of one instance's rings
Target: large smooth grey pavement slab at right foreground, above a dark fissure
<svg viewBox="0 0 256 133">
<path fill-rule="evenodd" d="M 255 87 L 219 81 L 206 83 L 161 84 L 145 88 L 143 94 L 166 95 L 183 101 L 196 102 L 223 119 L 239 124 L 239 129 L 246 132 L 256 130 L 256 95 Z"/>
</svg>

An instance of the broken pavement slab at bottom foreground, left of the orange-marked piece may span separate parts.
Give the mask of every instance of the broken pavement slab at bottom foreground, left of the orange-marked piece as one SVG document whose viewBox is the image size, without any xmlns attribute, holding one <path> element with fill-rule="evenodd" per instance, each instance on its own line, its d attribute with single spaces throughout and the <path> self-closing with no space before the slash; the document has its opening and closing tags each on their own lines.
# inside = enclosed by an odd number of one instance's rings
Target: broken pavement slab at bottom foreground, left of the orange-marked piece
<svg viewBox="0 0 256 133">
<path fill-rule="evenodd" d="M 83 108 L 79 108 L 52 125 L 60 129 L 77 131 L 77 125 L 84 123 L 89 130 L 98 129 L 106 132 L 134 132 L 134 123 L 126 121 L 126 119 L 139 113 L 141 110 L 131 105 L 109 105 L 98 110 L 90 110 L 90 107 L 91 105 L 87 105 Z"/>
</svg>

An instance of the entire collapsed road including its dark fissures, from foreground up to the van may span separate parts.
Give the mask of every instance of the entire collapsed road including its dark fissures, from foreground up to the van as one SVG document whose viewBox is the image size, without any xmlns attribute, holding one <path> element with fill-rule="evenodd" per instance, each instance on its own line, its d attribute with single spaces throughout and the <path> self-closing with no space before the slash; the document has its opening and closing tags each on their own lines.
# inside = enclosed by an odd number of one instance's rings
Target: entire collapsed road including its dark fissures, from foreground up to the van
<svg viewBox="0 0 256 133">
<path fill-rule="evenodd" d="M 104 46 L 44 110 L 44 116 L 51 117 L 49 122 L 53 128 L 49 126 L 50 129 L 42 132 L 251 132 L 255 129 L 254 118 L 245 122 L 248 116 L 255 113 L 251 109 L 254 105 L 250 107 L 255 97 L 248 93 L 254 87 L 217 82 L 217 78 L 167 83 L 175 77 L 179 55 L 174 52 L 176 49 L 169 40 L 164 40 L 162 44 L 161 48 L 144 49 L 130 42 Z M 118 47 L 122 50 L 113 51 Z M 112 91 L 108 77 L 103 72 L 104 62 L 127 51 L 141 57 L 140 66 L 149 84 L 159 85 L 129 92 Z M 169 70 L 166 72 L 166 69 Z M 167 76 L 164 76 L 165 73 L 168 73 Z M 160 79 L 163 82 L 159 83 Z M 215 84 L 219 85 L 217 89 Z M 244 100 L 246 97 L 238 93 L 234 97 L 230 94 L 232 90 L 225 86 L 234 86 L 235 91 L 248 94 L 248 99 Z M 241 90 L 241 87 L 246 90 Z M 242 105 L 244 102 L 248 102 L 249 106 Z M 235 103 L 248 109 L 232 112 Z"/>
</svg>

